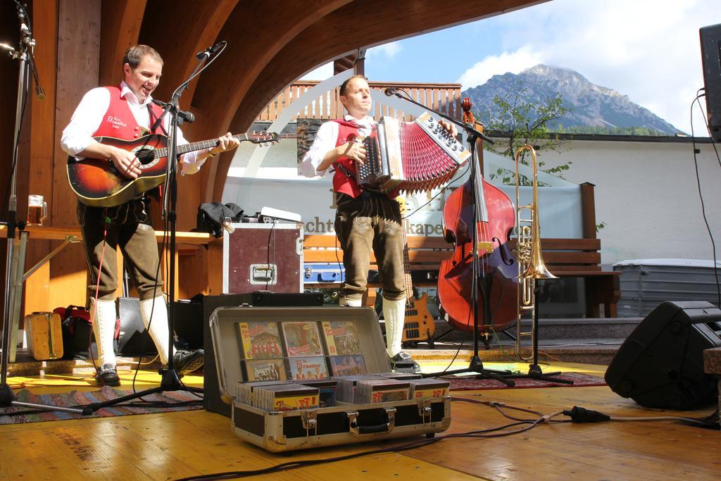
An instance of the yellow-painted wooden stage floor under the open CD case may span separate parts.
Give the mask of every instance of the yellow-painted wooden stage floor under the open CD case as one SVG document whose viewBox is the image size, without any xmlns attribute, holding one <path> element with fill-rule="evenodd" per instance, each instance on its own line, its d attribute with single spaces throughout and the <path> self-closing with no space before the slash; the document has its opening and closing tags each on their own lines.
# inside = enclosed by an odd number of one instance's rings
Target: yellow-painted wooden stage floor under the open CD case
<svg viewBox="0 0 721 481">
<path fill-rule="evenodd" d="M 523 365 L 520 369 L 523 369 Z M 434 369 L 436 366 L 424 366 Z M 443 366 L 445 367 L 445 366 Z M 490 363 L 487 367 L 492 369 Z M 603 366 L 557 363 L 554 369 L 603 375 Z M 545 369 L 548 371 L 548 369 Z M 131 374 L 123 375 L 127 389 Z M 158 379 L 141 376 L 138 389 Z M 9 378 L 32 381 L 38 393 L 87 387 L 87 380 Z M 187 384 L 202 377 L 187 376 Z M 97 388 L 92 388 L 97 389 Z M 652 410 L 617 396 L 608 387 L 549 387 L 459 391 L 454 397 L 505 402 L 551 414 L 578 405 L 614 416 L 712 414 Z M 519 415 L 515 413 L 514 415 Z M 451 428 L 463 433 L 510 423 L 485 405 L 451 403 Z M 531 415 L 520 414 L 522 418 Z M 566 420 L 565 416 L 556 419 Z M 303 459 L 323 459 L 408 440 L 270 454 L 240 441 L 230 420 L 205 410 L 0 425 L 0 479 L 172 480 L 216 472 L 262 469 Z M 673 421 L 538 425 L 502 438 L 450 438 L 412 451 L 376 454 L 265 475 L 272 480 L 714 480 L 721 479 L 721 432 Z"/>
</svg>

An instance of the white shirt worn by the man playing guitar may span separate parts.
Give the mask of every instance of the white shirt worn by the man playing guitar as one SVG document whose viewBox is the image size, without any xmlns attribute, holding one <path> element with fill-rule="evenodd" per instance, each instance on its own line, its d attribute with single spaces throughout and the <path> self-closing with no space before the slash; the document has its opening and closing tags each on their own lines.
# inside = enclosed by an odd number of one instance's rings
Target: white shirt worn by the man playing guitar
<svg viewBox="0 0 721 481">
<path fill-rule="evenodd" d="M 133 94 L 133 91 L 128 87 L 125 81 L 120 83 L 120 97 L 125 97 L 133 112 L 136 122 L 141 127 L 150 128 L 150 112 L 148 111 L 148 105 L 153 100 L 153 97 L 148 96 L 145 102 L 138 102 L 138 97 Z M 97 131 L 102 122 L 102 118 L 107 112 L 107 107 L 110 107 L 110 91 L 105 87 L 97 87 L 90 90 L 84 95 L 80 101 L 78 107 L 73 112 L 73 116 L 70 119 L 70 123 L 63 130 L 63 136 L 61 137 L 60 143 L 63 150 L 71 156 L 77 156 L 81 151 L 87 149 L 87 146 L 92 144 L 92 134 Z M 165 115 L 163 118 L 163 127 L 166 131 L 169 130 L 170 117 Z M 188 141 L 182 135 L 180 128 L 176 130 L 177 145 L 187 144 Z M 208 151 L 209 149 L 203 149 L 202 151 Z M 203 165 L 205 160 L 198 160 L 198 154 L 201 151 L 188 152 L 180 157 L 182 162 L 182 173 L 183 174 L 195 174 L 200 170 L 200 166 Z"/>
</svg>

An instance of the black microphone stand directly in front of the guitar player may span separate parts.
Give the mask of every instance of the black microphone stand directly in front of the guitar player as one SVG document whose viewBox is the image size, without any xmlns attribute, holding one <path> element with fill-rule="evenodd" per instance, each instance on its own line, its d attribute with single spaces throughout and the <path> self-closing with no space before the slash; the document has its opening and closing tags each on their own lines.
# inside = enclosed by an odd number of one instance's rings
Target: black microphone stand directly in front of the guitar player
<svg viewBox="0 0 721 481">
<path fill-rule="evenodd" d="M 186 386 L 180 381 L 180 375 L 177 373 L 177 370 L 175 369 L 175 365 L 173 362 L 173 355 L 174 355 L 174 339 L 173 339 L 173 332 L 174 332 L 174 322 L 175 322 L 175 250 L 176 250 L 176 205 L 177 205 L 177 136 L 175 135 L 177 132 L 178 125 L 180 125 L 180 118 L 182 112 L 180 108 L 178 107 L 178 101 L 180 100 L 180 95 L 182 92 L 187 89 L 188 84 L 190 84 L 190 81 L 195 78 L 195 76 L 200 75 L 200 72 L 207 69 L 208 66 L 215 61 L 215 59 L 220 55 L 220 53 L 225 49 L 225 43 L 222 43 L 223 45 L 221 48 L 217 48 L 214 51 L 210 51 L 210 49 L 206 50 L 204 53 L 198 54 L 198 65 L 195 66 L 195 69 L 190 74 L 190 76 L 185 80 L 182 84 L 180 84 L 180 87 L 175 89 L 175 92 L 172 94 L 172 98 L 170 102 L 168 102 L 163 110 L 162 115 L 156 120 L 156 123 L 160 125 L 162 122 L 162 118 L 166 114 L 170 114 L 170 128 L 168 132 L 168 165 L 167 165 L 167 172 L 165 177 L 165 182 L 167 185 L 167 195 L 164 198 L 164 214 L 165 219 L 169 225 L 169 231 L 170 231 L 170 260 L 169 260 L 169 270 L 168 270 L 168 369 L 163 372 L 162 378 L 160 381 L 159 387 L 154 387 L 151 389 L 146 389 L 141 392 L 134 392 L 133 394 L 128 394 L 127 396 L 121 396 L 113 400 L 105 401 L 105 402 L 97 402 L 94 404 L 89 405 L 88 407 L 94 411 L 97 411 L 99 409 L 102 409 L 103 407 L 111 406 L 111 405 L 117 405 L 121 402 L 130 401 L 138 399 L 139 397 L 146 396 L 148 394 L 156 394 L 159 392 L 172 392 L 172 391 L 187 391 L 187 392 L 198 392 L 202 393 L 203 389 L 199 387 L 191 387 Z M 218 44 L 220 45 L 220 44 Z M 216 45 L 217 46 L 217 45 Z M 212 57 L 212 58 L 211 58 Z M 210 58 L 210 60 L 208 60 Z M 205 63 L 205 61 L 208 60 L 208 63 Z M 203 65 L 205 63 L 205 65 Z M 202 67 L 202 68 L 201 68 Z M 151 129 L 154 130 L 154 129 Z"/>
</svg>

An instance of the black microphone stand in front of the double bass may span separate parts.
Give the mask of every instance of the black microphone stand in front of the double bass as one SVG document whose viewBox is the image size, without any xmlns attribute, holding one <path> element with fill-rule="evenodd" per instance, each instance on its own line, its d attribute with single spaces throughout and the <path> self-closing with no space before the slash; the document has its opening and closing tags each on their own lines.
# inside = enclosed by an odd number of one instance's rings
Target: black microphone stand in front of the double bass
<svg viewBox="0 0 721 481">
<path fill-rule="evenodd" d="M 460 120 L 457 120 L 455 118 L 450 117 L 449 115 L 443 114 L 441 112 L 438 112 L 436 110 L 430 109 L 427 106 L 421 104 L 420 102 L 416 102 L 413 100 L 410 96 L 404 96 L 402 94 L 399 94 L 399 92 L 395 89 L 386 89 L 386 95 L 391 96 L 394 95 L 395 97 L 398 97 L 399 99 L 406 100 L 408 102 L 411 102 L 415 105 L 418 105 L 419 107 L 423 107 L 424 109 L 428 110 L 429 112 L 433 112 L 435 115 L 438 115 L 441 118 L 444 118 L 448 120 L 451 123 L 454 123 L 455 125 L 458 125 L 460 128 L 462 128 L 466 135 L 468 136 L 468 142 L 469 142 L 469 151 L 471 152 L 471 159 L 469 162 L 471 162 L 471 182 L 473 185 L 472 189 L 472 212 L 473 212 L 473 219 L 474 219 L 474 227 L 473 227 L 473 236 L 472 236 L 472 242 L 473 242 L 473 260 L 472 260 L 472 288 L 471 288 L 471 303 L 472 303 L 472 309 L 473 309 L 473 356 L 471 357 L 469 366 L 466 369 L 454 369 L 451 371 L 441 371 L 436 373 L 425 373 L 422 374 L 423 377 L 437 377 L 437 376 L 447 376 L 450 374 L 466 374 L 466 373 L 477 373 L 478 376 L 476 376 L 476 379 L 495 379 L 496 381 L 503 382 L 503 384 L 507 385 L 508 387 L 513 387 L 516 385 L 514 381 L 511 379 L 508 379 L 508 376 L 512 376 L 510 372 L 507 371 L 494 371 L 492 369 L 485 369 L 483 366 L 483 362 L 481 361 L 480 356 L 478 355 L 479 346 L 478 346 L 478 338 L 479 338 L 479 329 L 478 329 L 478 322 L 479 322 L 479 312 L 478 312 L 478 291 L 479 291 L 479 281 L 481 283 L 480 289 L 483 291 L 486 301 L 484 302 L 484 315 L 485 319 L 491 318 L 491 312 L 490 312 L 490 302 L 487 299 L 487 293 L 490 293 L 490 281 L 492 279 L 479 279 L 479 265 L 478 265 L 478 229 L 475 227 L 478 225 L 478 222 L 480 220 L 480 214 L 481 209 L 479 208 L 478 199 L 477 199 L 477 193 L 479 193 L 480 186 L 477 186 L 477 181 L 479 180 L 479 175 L 477 173 L 477 156 L 476 156 L 476 143 L 477 139 L 482 138 L 483 140 L 489 142 L 490 144 L 493 144 L 493 140 L 486 136 L 484 133 L 477 131 L 474 125 L 471 125 L 469 123 L 461 122 Z"/>
</svg>

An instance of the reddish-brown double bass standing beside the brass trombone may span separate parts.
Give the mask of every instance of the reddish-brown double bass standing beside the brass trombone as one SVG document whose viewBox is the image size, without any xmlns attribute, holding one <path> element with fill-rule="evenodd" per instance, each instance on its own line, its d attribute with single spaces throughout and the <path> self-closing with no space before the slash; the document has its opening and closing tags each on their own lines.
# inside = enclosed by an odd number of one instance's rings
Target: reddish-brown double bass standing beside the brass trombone
<svg viewBox="0 0 721 481">
<path fill-rule="evenodd" d="M 464 122 L 479 125 L 470 99 L 464 98 L 462 105 Z M 483 179 L 482 151 L 475 158 L 474 175 L 448 196 L 443 207 L 444 237 L 455 247 L 451 258 L 441 261 L 438 299 L 453 327 L 473 331 L 475 297 L 479 335 L 488 348 L 493 333 L 507 329 L 517 318 L 518 266 L 508 248 L 516 208 L 508 195 Z"/>
</svg>

